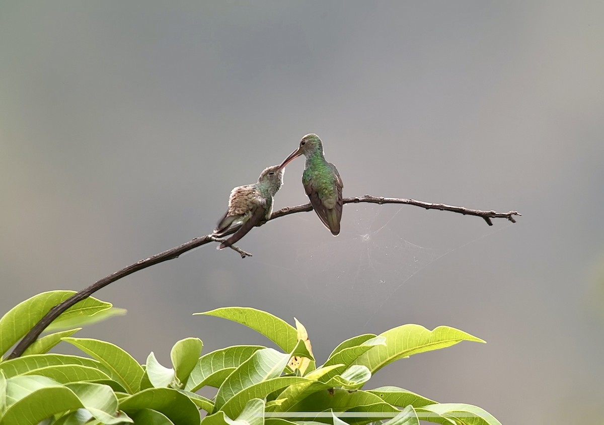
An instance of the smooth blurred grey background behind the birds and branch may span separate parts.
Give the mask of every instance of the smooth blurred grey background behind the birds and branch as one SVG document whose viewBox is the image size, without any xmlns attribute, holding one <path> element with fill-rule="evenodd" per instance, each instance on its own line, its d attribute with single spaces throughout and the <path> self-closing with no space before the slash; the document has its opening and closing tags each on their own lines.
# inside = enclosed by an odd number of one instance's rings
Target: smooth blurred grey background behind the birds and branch
<svg viewBox="0 0 604 425">
<path fill-rule="evenodd" d="M 98 298 L 80 336 L 144 362 L 270 344 L 191 313 L 262 308 L 341 340 L 404 323 L 487 340 L 401 360 L 372 387 L 504 424 L 602 423 L 604 3 L 0 3 L 0 311 L 79 290 L 213 229 L 237 185 L 323 138 L 345 196 L 522 212 L 518 223 L 347 205 L 204 246 Z M 275 207 L 307 202 L 303 160 Z M 57 351 L 69 352 L 59 345 Z"/>
</svg>

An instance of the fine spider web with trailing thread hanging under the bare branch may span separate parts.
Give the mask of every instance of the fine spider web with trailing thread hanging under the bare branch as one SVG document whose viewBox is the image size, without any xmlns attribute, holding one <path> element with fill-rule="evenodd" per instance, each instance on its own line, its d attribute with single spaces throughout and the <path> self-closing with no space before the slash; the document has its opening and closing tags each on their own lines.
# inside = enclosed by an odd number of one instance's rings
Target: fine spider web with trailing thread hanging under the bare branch
<svg viewBox="0 0 604 425">
<path fill-rule="evenodd" d="M 275 242 L 288 254 L 277 264 L 265 264 L 288 271 L 292 279 L 286 284 L 297 286 L 298 298 L 309 297 L 314 308 L 324 308 L 340 318 L 361 320 L 359 325 L 365 328 L 385 305 L 396 304 L 403 296 L 402 287 L 422 269 L 494 232 L 453 249 L 420 246 L 400 235 L 403 208 L 359 206 L 348 211 L 355 219 L 342 226 L 337 238 Z M 318 220 L 310 213 L 307 219 Z"/>
</svg>

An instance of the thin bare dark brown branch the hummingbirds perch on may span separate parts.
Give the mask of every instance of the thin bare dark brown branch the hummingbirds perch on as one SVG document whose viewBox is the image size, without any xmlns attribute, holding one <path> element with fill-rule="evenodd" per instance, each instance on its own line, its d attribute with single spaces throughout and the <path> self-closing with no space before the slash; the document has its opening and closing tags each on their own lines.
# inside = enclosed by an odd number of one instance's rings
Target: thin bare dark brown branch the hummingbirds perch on
<svg viewBox="0 0 604 425">
<path fill-rule="evenodd" d="M 482 211 L 480 209 L 470 209 L 465 208 L 463 206 L 452 206 L 445 205 L 444 203 L 431 203 L 431 202 L 422 202 L 414 199 L 406 199 L 406 198 L 387 198 L 387 197 L 377 197 L 377 196 L 359 196 L 353 198 L 344 198 L 344 203 L 402 203 L 406 205 L 415 205 L 420 206 L 426 209 L 440 209 L 441 211 L 451 211 L 458 212 L 459 214 L 469 215 L 469 216 L 477 216 L 482 217 L 489 226 L 492 226 L 493 223 L 491 219 L 508 219 L 512 223 L 516 223 L 516 220 L 513 216 L 521 216 L 517 211 L 509 211 L 509 212 L 496 212 L 496 211 Z M 278 219 L 279 217 L 289 216 L 289 214 L 295 214 L 297 212 L 304 211 L 312 211 L 312 205 L 310 203 L 305 203 L 304 205 L 297 206 L 286 206 L 281 208 L 278 211 L 272 213 L 271 218 L 269 220 Z M 267 221 L 269 221 L 267 220 Z M 264 223 L 260 223 L 262 225 Z M 237 228 L 233 228 L 228 231 L 226 235 L 233 234 Z M 99 289 L 107 286 L 110 283 L 113 283 L 117 280 L 120 280 L 123 277 L 131 275 L 132 273 L 138 272 L 138 270 L 146 269 L 147 267 L 153 266 L 154 264 L 162 263 L 164 261 L 173 260 L 174 258 L 178 258 L 179 255 L 184 254 L 191 249 L 197 248 L 198 246 L 205 245 L 207 243 L 213 241 L 220 241 L 219 238 L 214 237 L 213 235 L 205 235 L 202 237 L 194 238 L 191 241 L 183 243 L 179 246 L 175 246 L 174 248 L 167 249 L 164 252 L 159 252 L 159 254 L 155 254 L 152 257 L 144 258 L 143 260 L 139 260 L 134 264 L 130 264 L 130 266 L 124 267 L 121 270 L 117 270 L 117 272 L 111 273 L 111 275 L 105 276 L 101 280 L 96 281 L 91 286 L 81 290 L 80 292 L 75 293 L 70 298 L 66 299 L 60 304 L 55 305 L 50 311 L 45 315 L 42 319 L 40 319 L 37 324 L 31 328 L 31 330 L 23 337 L 23 339 L 17 344 L 14 348 L 13 352 L 7 357 L 8 359 L 14 359 L 15 357 L 19 357 L 23 354 L 23 352 L 29 347 L 33 342 L 37 339 L 37 337 L 47 328 L 54 319 L 58 318 L 65 310 L 67 310 L 72 305 L 77 302 L 82 301 L 83 299 L 88 298 L 93 293 L 97 292 Z M 239 252 L 242 258 L 251 257 L 252 255 L 249 252 L 243 251 L 236 246 L 231 246 L 231 249 Z"/>
</svg>

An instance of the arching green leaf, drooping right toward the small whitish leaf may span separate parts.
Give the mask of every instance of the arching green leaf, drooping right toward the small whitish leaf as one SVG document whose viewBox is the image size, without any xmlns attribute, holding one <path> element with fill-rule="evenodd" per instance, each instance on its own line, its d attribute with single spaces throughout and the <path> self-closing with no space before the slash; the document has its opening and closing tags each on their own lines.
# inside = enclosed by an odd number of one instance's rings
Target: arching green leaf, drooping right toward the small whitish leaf
<svg viewBox="0 0 604 425">
<path fill-rule="evenodd" d="M 137 392 L 140 388 L 143 368 L 137 360 L 117 345 L 91 338 L 68 337 L 63 340 L 103 363 L 112 371 L 111 377 L 117 379 L 130 394 Z"/>
</svg>

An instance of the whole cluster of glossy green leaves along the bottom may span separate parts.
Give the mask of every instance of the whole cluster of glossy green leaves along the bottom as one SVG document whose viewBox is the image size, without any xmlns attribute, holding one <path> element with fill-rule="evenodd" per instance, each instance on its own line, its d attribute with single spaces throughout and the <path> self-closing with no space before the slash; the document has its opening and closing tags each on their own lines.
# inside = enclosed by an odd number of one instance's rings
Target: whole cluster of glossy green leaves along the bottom
<svg viewBox="0 0 604 425">
<path fill-rule="evenodd" d="M 71 291 L 40 293 L 0 319 L 0 353 L 6 353 L 53 305 Z M 53 322 L 54 330 L 120 314 L 88 298 Z M 140 365 L 110 342 L 72 336 L 80 328 L 48 334 L 27 353 L 0 361 L 0 425 L 499 425 L 480 407 L 437 403 L 396 386 L 365 389 L 371 375 L 412 354 L 483 342 L 451 327 L 402 325 L 339 344 L 316 366 L 304 326 L 246 307 L 200 315 L 246 325 L 277 349 L 236 345 L 201 354 L 195 337 L 176 342 L 170 366 L 150 353 Z M 85 356 L 50 354 L 64 341 Z M 213 397 L 198 394 L 202 390 Z"/>
</svg>

